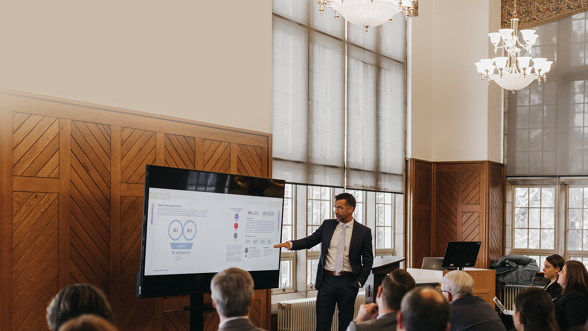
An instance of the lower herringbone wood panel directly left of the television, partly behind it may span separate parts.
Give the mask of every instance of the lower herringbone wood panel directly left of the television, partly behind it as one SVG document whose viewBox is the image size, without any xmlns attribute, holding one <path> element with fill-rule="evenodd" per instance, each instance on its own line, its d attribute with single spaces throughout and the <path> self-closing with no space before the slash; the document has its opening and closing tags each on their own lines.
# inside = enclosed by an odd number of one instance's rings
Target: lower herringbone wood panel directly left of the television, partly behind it
<svg viewBox="0 0 588 331">
<path fill-rule="evenodd" d="M 135 274 L 141 264 L 143 198 L 121 197 L 121 330 L 152 330 L 153 299 L 135 297 Z"/>
</svg>

